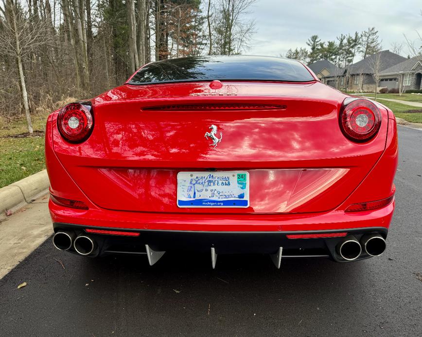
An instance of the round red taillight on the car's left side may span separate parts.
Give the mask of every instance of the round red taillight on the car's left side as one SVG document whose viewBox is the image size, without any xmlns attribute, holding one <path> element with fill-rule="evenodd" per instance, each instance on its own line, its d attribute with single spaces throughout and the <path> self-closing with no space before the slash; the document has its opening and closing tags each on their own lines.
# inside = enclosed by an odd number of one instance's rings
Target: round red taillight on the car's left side
<svg viewBox="0 0 422 337">
<path fill-rule="evenodd" d="M 70 143 L 81 143 L 86 140 L 94 126 L 91 110 L 90 105 L 81 103 L 64 106 L 57 118 L 60 135 Z"/>
</svg>

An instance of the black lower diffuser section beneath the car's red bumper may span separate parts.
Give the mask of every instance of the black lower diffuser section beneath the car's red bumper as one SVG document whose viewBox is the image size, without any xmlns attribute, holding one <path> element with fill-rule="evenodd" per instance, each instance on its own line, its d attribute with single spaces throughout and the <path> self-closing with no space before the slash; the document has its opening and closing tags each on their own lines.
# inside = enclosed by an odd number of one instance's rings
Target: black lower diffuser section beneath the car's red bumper
<svg viewBox="0 0 422 337">
<path fill-rule="evenodd" d="M 145 254 L 145 245 L 155 251 L 194 251 L 210 252 L 215 249 L 217 254 L 229 253 L 276 253 L 283 248 L 282 258 L 331 258 L 337 262 L 346 262 L 335 251 L 335 246 L 343 237 L 289 239 L 290 234 L 328 234 L 336 230 L 306 231 L 306 232 L 192 232 L 192 231 L 160 231 L 160 230 L 128 230 L 140 233 L 137 237 L 115 236 L 87 233 L 89 226 L 68 223 L 54 223 L 54 232 L 61 230 L 75 232 L 76 236 L 85 235 L 96 242 L 96 250 L 89 256 L 107 254 Z M 102 227 L 95 229 L 119 230 L 121 228 Z M 387 228 L 350 228 L 342 232 L 353 235 L 359 240 L 363 235 L 379 233 L 387 237 Z M 69 250 L 76 253 L 73 248 Z M 356 260 L 370 257 L 362 253 Z"/>
</svg>

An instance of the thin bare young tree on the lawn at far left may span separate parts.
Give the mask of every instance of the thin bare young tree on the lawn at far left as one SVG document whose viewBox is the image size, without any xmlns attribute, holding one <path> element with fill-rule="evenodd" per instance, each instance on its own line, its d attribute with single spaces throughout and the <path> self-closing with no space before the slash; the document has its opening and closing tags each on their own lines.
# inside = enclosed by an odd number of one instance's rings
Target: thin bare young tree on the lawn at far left
<svg viewBox="0 0 422 337">
<path fill-rule="evenodd" d="M 28 132 L 33 134 L 28 90 L 25 80 L 24 58 L 39 46 L 48 43 L 48 22 L 37 17 L 32 20 L 28 11 L 24 12 L 18 0 L 2 0 L 0 5 L 0 54 L 13 57 L 19 76 L 21 100 L 28 124 Z"/>
</svg>

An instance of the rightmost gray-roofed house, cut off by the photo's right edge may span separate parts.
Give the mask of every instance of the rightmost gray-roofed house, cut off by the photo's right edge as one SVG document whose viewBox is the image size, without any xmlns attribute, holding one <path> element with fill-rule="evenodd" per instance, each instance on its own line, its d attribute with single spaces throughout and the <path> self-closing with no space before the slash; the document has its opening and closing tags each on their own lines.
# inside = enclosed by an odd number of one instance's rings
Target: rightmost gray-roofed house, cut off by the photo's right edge
<svg viewBox="0 0 422 337">
<path fill-rule="evenodd" d="M 404 60 L 381 71 L 380 87 L 421 90 L 422 56 Z"/>
</svg>

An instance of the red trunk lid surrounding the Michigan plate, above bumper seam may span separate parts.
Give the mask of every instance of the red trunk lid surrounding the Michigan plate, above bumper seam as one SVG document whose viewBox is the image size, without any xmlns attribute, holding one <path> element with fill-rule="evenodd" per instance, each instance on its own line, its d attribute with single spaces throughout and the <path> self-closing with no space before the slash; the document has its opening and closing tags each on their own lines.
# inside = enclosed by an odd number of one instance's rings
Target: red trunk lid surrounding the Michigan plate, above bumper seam
<svg viewBox="0 0 422 337">
<path fill-rule="evenodd" d="M 341 133 L 345 97 L 320 83 L 225 83 L 219 90 L 209 83 L 125 85 L 94 99 L 95 126 L 86 142 L 67 144 L 55 130 L 54 151 L 88 198 L 107 209 L 328 211 L 352 193 L 385 148 L 384 115 L 368 144 Z M 211 125 L 222 135 L 215 148 L 204 136 Z M 249 207 L 177 207 L 177 173 L 214 170 L 249 172 Z"/>
</svg>

